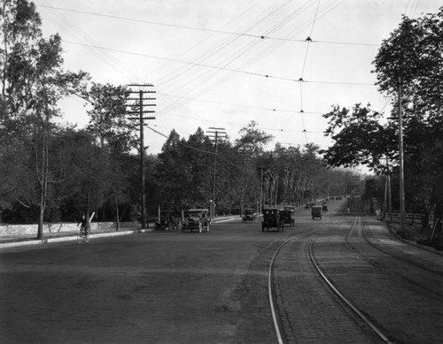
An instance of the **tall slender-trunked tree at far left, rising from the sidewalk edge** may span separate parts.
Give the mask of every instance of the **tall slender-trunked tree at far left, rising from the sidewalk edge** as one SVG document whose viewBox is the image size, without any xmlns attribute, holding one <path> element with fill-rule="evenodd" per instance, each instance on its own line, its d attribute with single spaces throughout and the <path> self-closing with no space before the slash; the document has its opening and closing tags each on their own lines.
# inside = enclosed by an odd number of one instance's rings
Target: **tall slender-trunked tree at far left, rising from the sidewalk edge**
<svg viewBox="0 0 443 344">
<path fill-rule="evenodd" d="M 32 136 L 35 157 L 32 180 L 39 189 L 37 237 L 42 239 L 44 212 L 51 193 L 51 119 L 59 115 L 57 103 L 61 97 L 82 88 L 87 75 L 63 71 L 60 36 L 42 37 L 42 22 L 35 4 L 27 0 L 3 0 L 0 20 L 3 28 L 0 141 L 8 144 L 12 134 Z"/>
</svg>

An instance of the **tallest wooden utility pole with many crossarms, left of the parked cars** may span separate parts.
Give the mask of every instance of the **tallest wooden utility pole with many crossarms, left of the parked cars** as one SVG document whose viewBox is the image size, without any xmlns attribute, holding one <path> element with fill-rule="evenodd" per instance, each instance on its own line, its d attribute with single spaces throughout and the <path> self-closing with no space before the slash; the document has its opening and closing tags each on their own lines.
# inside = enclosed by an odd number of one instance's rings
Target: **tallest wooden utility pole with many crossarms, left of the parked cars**
<svg viewBox="0 0 443 344">
<path fill-rule="evenodd" d="M 145 212 L 146 212 L 146 195 L 145 195 L 145 176 L 144 176 L 144 152 L 146 147 L 144 146 L 144 120 L 155 119 L 155 117 L 145 117 L 146 113 L 153 113 L 155 111 L 147 111 L 144 110 L 146 106 L 155 106 L 154 103 L 144 103 L 144 101 L 152 101 L 156 98 L 145 97 L 147 94 L 155 93 L 155 91 L 150 90 L 152 88 L 152 84 L 130 84 L 128 85 L 130 88 L 139 88 L 138 91 L 129 91 L 129 94 L 138 94 L 138 97 L 128 98 L 128 101 L 134 101 L 136 103 L 128 103 L 127 106 L 130 106 L 132 109 L 136 109 L 137 111 L 128 111 L 130 114 L 138 114 L 138 117 L 130 117 L 129 119 L 135 119 L 139 121 L 140 125 L 140 184 L 141 184 L 141 192 L 140 192 L 140 203 L 141 203 L 141 219 L 140 223 L 142 225 L 142 229 L 146 228 L 145 221 Z"/>
</svg>

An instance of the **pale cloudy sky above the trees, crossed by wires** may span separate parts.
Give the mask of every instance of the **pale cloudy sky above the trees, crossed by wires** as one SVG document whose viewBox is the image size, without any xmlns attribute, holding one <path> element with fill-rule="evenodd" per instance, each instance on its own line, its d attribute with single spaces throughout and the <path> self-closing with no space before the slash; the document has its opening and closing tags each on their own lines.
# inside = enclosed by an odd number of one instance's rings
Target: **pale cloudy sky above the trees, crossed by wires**
<svg viewBox="0 0 443 344">
<path fill-rule="evenodd" d="M 439 0 L 35 0 L 43 35 L 60 34 L 64 68 L 91 81 L 152 84 L 155 119 L 144 132 L 157 154 L 172 129 L 223 128 L 234 142 L 251 121 L 284 147 L 326 149 L 332 105 L 371 106 L 389 117 L 372 61 L 403 14 L 435 13 Z M 308 40 L 307 38 L 310 38 Z M 138 90 L 139 88 L 134 88 Z M 60 104 L 88 123 L 84 101 Z"/>
</svg>

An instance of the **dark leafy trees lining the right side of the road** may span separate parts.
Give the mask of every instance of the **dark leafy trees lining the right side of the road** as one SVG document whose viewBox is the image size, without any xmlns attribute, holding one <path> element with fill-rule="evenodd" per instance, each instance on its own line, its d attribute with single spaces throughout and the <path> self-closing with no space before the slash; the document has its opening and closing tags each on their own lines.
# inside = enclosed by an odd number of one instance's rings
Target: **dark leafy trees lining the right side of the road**
<svg viewBox="0 0 443 344">
<path fill-rule="evenodd" d="M 370 105 L 334 106 L 324 115 L 335 142 L 323 150 L 330 165 L 366 164 L 383 177 L 369 183 L 383 195 L 392 177 L 392 204 L 399 210 L 399 118 L 402 118 L 407 212 L 443 217 L 443 7 L 418 19 L 403 17 L 373 62 L 377 85 L 392 100 L 392 114 Z M 367 190 L 369 192 L 369 190 Z"/>
</svg>

